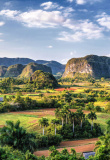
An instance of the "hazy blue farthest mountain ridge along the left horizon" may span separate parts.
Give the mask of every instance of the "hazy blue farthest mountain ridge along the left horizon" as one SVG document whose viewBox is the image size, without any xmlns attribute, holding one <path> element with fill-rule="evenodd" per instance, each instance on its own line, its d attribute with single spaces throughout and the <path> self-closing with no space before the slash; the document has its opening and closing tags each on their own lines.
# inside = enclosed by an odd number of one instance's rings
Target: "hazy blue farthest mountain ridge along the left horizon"
<svg viewBox="0 0 110 160">
<path fill-rule="evenodd" d="M 0 76 L 6 71 L 6 68 L 11 65 L 21 64 L 21 65 L 27 65 L 31 62 L 37 63 L 37 64 L 43 64 L 51 68 L 52 74 L 63 74 L 65 71 L 65 65 L 57 62 L 57 61 L 45 61 L 45 60 L 32 60 L 30 58 L 0 58 Z M 16 66 L 17 67 L 17 66 Z M 21 67 L 22 68 L 22 67 Z M 3 69 L 3 71 L 2 71 Z"/>
</svg>

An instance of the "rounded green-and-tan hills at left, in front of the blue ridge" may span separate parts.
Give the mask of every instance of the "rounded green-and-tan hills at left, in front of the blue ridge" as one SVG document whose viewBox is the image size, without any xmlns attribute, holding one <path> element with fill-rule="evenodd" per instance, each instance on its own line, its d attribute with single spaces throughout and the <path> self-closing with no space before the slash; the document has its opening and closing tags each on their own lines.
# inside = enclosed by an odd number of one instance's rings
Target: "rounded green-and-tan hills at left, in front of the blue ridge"
<svg viewBox="0 0 110 160">
<path fill-rule="evenodd" d="M 9 67 L 0 66 L 0 77 L 29 78 L 37 70 L 52 73 L 50 67 L 31 62 L 27 65 L 15 64 Z"/>
</svg>

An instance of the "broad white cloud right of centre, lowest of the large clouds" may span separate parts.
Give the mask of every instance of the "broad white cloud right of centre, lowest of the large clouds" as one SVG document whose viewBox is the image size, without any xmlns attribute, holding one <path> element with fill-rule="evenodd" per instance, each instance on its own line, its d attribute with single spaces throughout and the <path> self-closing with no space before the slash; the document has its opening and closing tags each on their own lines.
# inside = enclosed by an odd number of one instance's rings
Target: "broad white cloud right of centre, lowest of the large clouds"
<svg viewBox="0 0 110 160">
<path fill-rule="evenodd" d="M 68 19 L 64 26 L 71 29 L 71 32 L 61 32 L 58 40 L 80 42 L 83 39 L 98 39 L 103 36 L 103 29 L 89 20 L 71 21 Z"/>
</svg>

